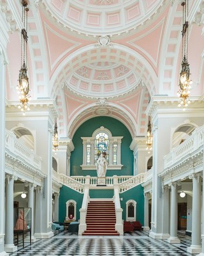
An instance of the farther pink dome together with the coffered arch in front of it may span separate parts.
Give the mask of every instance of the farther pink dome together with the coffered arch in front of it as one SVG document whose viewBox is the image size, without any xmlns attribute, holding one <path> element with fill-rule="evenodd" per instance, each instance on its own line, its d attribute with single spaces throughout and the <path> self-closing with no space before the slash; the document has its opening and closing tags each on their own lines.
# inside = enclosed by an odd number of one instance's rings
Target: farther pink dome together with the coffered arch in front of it
<svg viewBox="0 0 204 256">
<path fill-rule="evenodd" d="M 88 45 L 73 52 L 57 67 L 51 79 L 52 97 L 59 83 L 85 97 L 119 97 L 143 83 L 156 94 L 157 76 L 148 61 L 131 48 Z"/>
</svg>

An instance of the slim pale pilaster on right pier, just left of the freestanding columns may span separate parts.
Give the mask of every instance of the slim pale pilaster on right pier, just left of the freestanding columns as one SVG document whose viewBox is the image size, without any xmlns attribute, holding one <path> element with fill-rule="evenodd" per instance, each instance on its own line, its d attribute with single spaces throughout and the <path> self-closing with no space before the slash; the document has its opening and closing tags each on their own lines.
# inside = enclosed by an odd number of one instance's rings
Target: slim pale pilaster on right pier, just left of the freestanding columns
<svg viewBox="0 0 204 256">
<path fill-rule="evenodd" d="M 163 207 L 162 207 L 162 237 L 170 237 L 170 187 L 163 187 Z"/>
</svg>

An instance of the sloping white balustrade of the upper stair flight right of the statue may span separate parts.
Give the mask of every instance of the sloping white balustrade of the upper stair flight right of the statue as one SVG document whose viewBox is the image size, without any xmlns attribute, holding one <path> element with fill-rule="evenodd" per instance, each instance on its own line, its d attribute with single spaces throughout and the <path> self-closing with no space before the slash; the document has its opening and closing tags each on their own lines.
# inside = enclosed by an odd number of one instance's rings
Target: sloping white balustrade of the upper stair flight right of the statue
<svg viewBox="0 0 204 256">
<path fill-rule="evenodd" d="M 144 182 L 145 175 L 146 175 L 146 173 L 140 173 L 140 174 L 132 177 L 131 179 L 128 179 L 128 180 L 120 183 L 119 184 L 120 193 L 123 193 L 123 192 L 127 191 L 128 189 L 131 189 L 131 188 L 141 184 L 142 182 Z"/>
</svg>

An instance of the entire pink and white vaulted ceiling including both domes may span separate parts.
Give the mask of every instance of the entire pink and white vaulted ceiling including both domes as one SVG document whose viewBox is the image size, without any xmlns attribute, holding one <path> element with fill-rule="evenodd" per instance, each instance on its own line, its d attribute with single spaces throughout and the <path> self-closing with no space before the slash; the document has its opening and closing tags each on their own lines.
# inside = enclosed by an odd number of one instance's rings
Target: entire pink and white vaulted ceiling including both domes
<svg viewBox="0 0 204 256">
<path fill-rule="evenodd" d="M 30 1 L 28 65 L 32 98 L 57 97 L 63 136 L 66 132 L 73 134 L 77 125 L 100 115 L 104 108 L 108 109 L 104 115 L 121 120 L 132 136 L 145 135 L 149 94 L 175 97 L 177 92 L 182 30 L 182 8 L 177 2 Z M 196 3 L 191 1 L 190 11 L 194 6 L 200 12 L 201 4 L 199 7 Z M 204 79 L 203 26 L 196 24 L 196 12 L 191 12 L 189 31 L 194 95 L 203 92 Z M 14 13 L 20 15 L 19 10 Z M 18 30 L 10 34 L 7 49 L 9 99 L 15 99 L 20 68 Z M 111 44 L 99 45 L 101 35 L 110 36 Z M 106 98 L 107 106 L 99 106 L 98 98 Z M 71 131 L 67 131 L 69 125 Z"/>
</svg>

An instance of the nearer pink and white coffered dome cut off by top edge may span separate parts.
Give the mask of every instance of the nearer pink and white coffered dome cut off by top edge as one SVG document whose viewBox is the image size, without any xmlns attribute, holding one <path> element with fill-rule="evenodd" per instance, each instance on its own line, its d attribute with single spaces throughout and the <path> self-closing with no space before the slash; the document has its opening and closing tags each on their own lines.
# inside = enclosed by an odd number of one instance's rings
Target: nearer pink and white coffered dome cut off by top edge
<svg viewBox="0 0 204 256">
<path fill-rule="evenodd" d="M 44 0 L 64 26 L 88 35 L 113 35 L 135 29 L 164 7 L 163 0 Z"/>
</svg>

